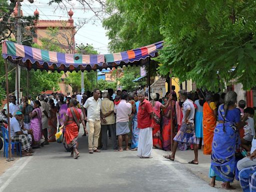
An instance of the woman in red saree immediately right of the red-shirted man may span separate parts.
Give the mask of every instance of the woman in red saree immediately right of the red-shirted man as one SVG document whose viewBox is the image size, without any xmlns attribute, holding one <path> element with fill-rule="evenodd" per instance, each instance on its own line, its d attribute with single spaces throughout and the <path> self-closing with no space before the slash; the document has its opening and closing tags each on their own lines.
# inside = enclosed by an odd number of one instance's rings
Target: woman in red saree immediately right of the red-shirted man
<svg viewBox="0 0 256 192">
<path fill-rule="evenodd" d="M 152 100 L 150 101 L 153 106 L 153 118 L 152 118 L 152 134 L 153 134 L 153 148 L 162 148 L 162 138 L 161 138 L 161 131 L 160 131 L 160 119 L 161 119 L 161 108 L 164 109 L 169 105 L 169 102 L 167 101 L 164 103 L 160 103 L 156 100 L 156 93 L 151 93 Z M 168 98 L 167 98 L 168 100 Z"/>
</svg>

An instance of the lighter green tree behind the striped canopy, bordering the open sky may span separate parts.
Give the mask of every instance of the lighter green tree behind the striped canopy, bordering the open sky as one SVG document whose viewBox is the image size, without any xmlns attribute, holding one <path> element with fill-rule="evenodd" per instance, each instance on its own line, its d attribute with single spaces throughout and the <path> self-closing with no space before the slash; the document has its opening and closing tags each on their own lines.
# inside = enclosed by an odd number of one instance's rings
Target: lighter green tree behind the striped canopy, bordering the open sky
<svg viewBox="0 0 256 192">
<path fill-rule="evenodd" d="M 143 23 L 136 19 L 136 14 L 127 9 L 129 0 L 107 0 L 106 12 L 110 15 L 103 19 L 102 26 L 107 30 L 106 34 L 110 40 L 109 50 L 119 52 L 141 47 L 163 39 L 160 33 L 160 23 L 153 24 L 143 19 Z M 158 21 L 158 16 L 154 17 Z M 157 65 L 151 63 L 151 75 L 156 75 Z M 128 66 L 127 69 L 135 69 L 135 74 L 139 74 L 139 67 Z M 148 68 L 146 67 L 146 71 Z"/>
</svg>

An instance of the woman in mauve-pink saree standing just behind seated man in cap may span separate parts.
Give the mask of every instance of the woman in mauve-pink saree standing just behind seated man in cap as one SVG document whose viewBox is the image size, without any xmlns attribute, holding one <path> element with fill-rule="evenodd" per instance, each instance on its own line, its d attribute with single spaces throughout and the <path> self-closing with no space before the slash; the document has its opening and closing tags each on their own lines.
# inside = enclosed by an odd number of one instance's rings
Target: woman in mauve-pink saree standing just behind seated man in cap
<svg viewBox="0 0 256 192">
<path fill-rule="evenodd" d="M 40 107 L 41 104 L 38 100 L 34 101 L 34 110 L 29 113 L 30 116 L 30 128 L 33 130 L 33 145 L 39 145 L 42 130 L 42 114 Z"/>
</svg>

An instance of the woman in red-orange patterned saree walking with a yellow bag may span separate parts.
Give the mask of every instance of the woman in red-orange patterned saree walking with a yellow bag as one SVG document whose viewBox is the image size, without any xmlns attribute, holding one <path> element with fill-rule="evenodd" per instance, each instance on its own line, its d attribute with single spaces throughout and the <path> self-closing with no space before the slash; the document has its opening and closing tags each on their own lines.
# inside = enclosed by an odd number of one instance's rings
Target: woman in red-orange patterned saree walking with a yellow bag
<svg viewBox="0 0 256 192">
<path fill-rule="evenodd" d="M 65 148 L 71 150 L 71 156 L 75 152 L 74 158 L 79 157 L 79 152 L 77 150 L 77 137 L 79 132 L 79 122 L 81 121 L 83 127 L 85 127 L 84 120 L 82 118 L 81 109 L 76 108 L 77 101 L 75 98 L 72 98 L 69 103 L 69 108 L 66 110 L 65 114 L 65 133 L 63 138 L 63 143 Z M 87 133 L 87 132 L 86 132 Z"/>
</svg>

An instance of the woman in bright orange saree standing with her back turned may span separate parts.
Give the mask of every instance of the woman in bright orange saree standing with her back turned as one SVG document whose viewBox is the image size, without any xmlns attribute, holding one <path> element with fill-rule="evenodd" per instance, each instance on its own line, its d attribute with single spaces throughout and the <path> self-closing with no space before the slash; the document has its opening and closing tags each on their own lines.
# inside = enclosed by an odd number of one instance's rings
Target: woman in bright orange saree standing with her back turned
<svg viewBox="0 0 256 192">
<path fill-rule="evenodd" d="M 212 95 L 206 94 L 206 102 L 203 104 L 203 154 L 211 154 L 211 144 L 213 139 L 214 128 L 216 126 L 217 107 L 212 101 Z"/>
</svg>

